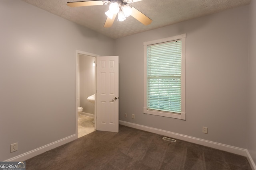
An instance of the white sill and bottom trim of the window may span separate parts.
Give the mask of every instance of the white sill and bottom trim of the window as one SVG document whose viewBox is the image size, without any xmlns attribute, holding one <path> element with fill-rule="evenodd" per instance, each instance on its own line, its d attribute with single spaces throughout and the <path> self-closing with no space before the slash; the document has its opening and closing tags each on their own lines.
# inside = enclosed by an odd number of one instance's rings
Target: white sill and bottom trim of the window
<svg viewBox="0 0 256 170">
<path fill-rule="evenodd" d="M 157 115 L 157 116 L 163 116 L 163 117 L 171 117 L 175 119 L 181 119 L 181 120 L 186 120 L 186 113 L 167 113 L 164 111 L 154 111 L 154 110 L 148 110 L 147 108 L 143 108 L 144 114 L 149 114 L 149 115 Z"/>
</svg>

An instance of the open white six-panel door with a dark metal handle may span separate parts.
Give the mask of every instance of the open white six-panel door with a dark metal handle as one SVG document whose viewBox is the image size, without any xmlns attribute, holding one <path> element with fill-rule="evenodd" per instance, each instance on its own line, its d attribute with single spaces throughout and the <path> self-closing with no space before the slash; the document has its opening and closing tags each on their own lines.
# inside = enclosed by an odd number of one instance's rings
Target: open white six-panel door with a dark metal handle
<svg viewBox="0 0 256 170">
<path fill-rule="evenodd" d="M 97 130 L 118 132 L 118 56 L 97 58 Z"/>
</svg>

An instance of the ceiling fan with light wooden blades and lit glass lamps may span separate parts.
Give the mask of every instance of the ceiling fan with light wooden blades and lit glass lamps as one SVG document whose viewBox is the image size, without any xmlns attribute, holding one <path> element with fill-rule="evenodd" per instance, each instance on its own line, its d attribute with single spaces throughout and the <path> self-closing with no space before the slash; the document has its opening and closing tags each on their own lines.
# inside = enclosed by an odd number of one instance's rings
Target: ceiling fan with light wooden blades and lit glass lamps
<svg viewBox="0 0 256 170">
<path fill-rule="evenodd" d="M 126 17 L 131 15 L 144 25 L 149 25 L 152 22 L 152 20 L 130 5 L 130 3 L 132 2 L 138 1 L 141 0 L 91 0 L 80 2 L 68 2 L 67 5 L 70 7 L 109 5 L 109 10 L 105 12 L 108 18 L 106 19 L 104 27 L 111 27 L 116 18 L 116 15 L 118 15 L 118 21 L 124 21 L 126 20 Z"/>
</svg>

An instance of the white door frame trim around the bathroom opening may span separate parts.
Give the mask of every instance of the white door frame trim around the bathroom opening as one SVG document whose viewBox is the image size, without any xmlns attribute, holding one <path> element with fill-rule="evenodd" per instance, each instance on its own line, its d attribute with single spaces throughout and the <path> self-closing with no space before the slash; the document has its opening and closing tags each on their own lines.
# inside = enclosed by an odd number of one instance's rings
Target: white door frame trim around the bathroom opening
<svg viewBox="0 0 256 170">
<path fill-rule="evenodd" d="M 75 87 L 75 89 L 76 89 L 76 111 L 75 111 L 75 113 L 76 113 L 76 138 L 78 138 L 78 121 L 77 121 L 77 119 L 78 119 L 78 111 L 77 111 L 77 107 L 78 107 L 78 57 L 79 57 L 79 55 L 87 55 L 87 56 L 90 56 L 90 57 L 99 57 L 100 55 L 97 55 L 97 54 L 93 54 L 93 53 L 88 53 L 88 52 L 85 52 L 85 51 L 80 51 L 80 50 L 76 50 L 76 87 Z M 95 65 L 97 64 L 97 60 L 95 60 Z M 95 71 L 94 71 L 94 76 L 95 76 L 95 88 L 94 88 L 94 90 L 95 90 L 95 92 L 94 92 L 94 94 L 95 94 L 95 102 L 94 102 L 94 129 L 95 130 L 97 130 L 97 121 L 96 121 L 96 119 L 97 119 L 97 93 L 96 93 L 96 87 L 97 87 L 97 77 L 96 77 L 96 75 L 97 75 L 97 69 L 96 69 L 97 67 L 95 66 L 94 67 L 94 69 L 95 69 Z"/>
</svg>

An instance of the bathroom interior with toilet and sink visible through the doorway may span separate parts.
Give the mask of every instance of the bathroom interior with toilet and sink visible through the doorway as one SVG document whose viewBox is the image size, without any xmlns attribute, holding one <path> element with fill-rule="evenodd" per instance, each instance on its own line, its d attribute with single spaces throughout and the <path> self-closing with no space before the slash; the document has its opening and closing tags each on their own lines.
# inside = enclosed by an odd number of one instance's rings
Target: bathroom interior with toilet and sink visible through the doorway
<svg viewBox="0 0 256 170">
<path fill-rule="evenodd" d="M 78 55 L 78 137 L 95 131 L 95 58 Z"/>
</svg>

